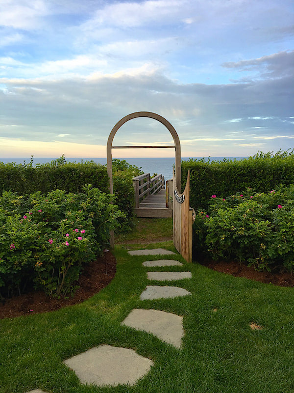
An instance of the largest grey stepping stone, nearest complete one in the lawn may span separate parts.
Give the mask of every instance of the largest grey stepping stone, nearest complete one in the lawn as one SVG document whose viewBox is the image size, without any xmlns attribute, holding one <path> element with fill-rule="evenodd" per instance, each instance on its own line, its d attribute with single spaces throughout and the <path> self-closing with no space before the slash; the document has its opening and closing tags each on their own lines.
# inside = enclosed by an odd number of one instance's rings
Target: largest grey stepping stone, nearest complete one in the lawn
<svg viewBox="0 0 294 393">
<path fill-rule="evenodd" d="M 132 349 L 111 345 L 99 345 L 63 363 L 73 369 L 82 384 L 97 386 L 134 385 L 153 365 Z"/>
</svg>

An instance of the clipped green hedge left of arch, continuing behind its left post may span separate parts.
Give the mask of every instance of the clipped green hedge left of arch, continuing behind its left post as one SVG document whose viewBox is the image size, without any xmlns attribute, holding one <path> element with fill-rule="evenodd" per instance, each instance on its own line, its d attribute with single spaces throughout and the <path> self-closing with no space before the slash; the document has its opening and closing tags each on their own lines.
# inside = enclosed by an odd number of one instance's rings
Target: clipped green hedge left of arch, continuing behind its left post
<svg viewBox="0 0 294 393">
<path fill-rule="evenodd" d="M 113 172 L 115 203 L 126 215 L 126 218 L 120 219 L 121 229 L 127 230 L 132 226 L 134 211 L 132 177 L 142 171 L 124 160 L 114 159 Z M 64 156 L 35 167 L 33 158 L 28 164 L 0 162 L 0 194 L 9 190 L 22 195 L 37 191 L 47 194 L 52 190 L 80 193 L 85 184 L 92 184 L 101 192 L 108 193 L 106 167 L 94 161 L 67 162 Z"/>
</svg>

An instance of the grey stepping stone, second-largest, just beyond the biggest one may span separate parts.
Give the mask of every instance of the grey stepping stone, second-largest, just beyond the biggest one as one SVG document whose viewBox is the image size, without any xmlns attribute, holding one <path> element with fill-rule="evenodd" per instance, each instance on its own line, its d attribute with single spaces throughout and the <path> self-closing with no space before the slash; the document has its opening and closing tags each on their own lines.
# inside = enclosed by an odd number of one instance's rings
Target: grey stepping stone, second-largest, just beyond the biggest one
<svg viewBox="0 0 294 393">
<path fill-rule="evenodd" d="M 122 325 L 152 333 L 179 348 L 184 336 L 183 317 L 159 310 L 134 309 Z"/>
</svg>

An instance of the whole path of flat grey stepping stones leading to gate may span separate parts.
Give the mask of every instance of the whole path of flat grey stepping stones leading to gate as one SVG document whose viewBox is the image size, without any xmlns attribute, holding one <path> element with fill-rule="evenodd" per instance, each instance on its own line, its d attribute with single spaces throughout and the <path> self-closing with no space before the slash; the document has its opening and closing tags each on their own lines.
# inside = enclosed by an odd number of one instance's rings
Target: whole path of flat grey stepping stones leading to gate
<svg viewBox="0 0 294 393">
<path fill-rule="evenodd" d="M 176 255 L 164 249 L 136 250 L 136 255 Z M 183 266 L 176 260 L 159 259 L 143 262 L 145 267 Z M 147 272 L 149 280 L 172 281 L 191 278 L 191 272 Z M 191 295 L 178 286 L 147 285 L 140 299 L 173 298 Z M 122 326 L 145 331 L 180 349 L 184 336 L 183 318 L 171 312 L 155 309 L 133 309 L 121 323 Z M 63 362 L 71 368 L 82 384 L 99 386 L 134 385 L 150 370 L 153 362 L 134 350 L 111 345 L 99 345 Z M 46 393 L 39 389 L 27 393 Z"/>
</svg>

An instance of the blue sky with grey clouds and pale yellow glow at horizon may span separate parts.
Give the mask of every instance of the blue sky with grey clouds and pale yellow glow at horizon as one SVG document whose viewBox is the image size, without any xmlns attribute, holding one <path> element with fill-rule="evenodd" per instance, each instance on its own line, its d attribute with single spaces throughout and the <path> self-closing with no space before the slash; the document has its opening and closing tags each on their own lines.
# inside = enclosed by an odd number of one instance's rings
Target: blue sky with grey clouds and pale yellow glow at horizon
<svg viewBox="0 0 294 393">
<path fill-rule="evenodd" d="M 182 157 L 293 149 L 293 33 L 292 0 L 0 0 L 0 159 L 106 157 L 139 111 Z M 173 140 L 136 118 L 113 141 L 147 144 Z"/>
</svg>

